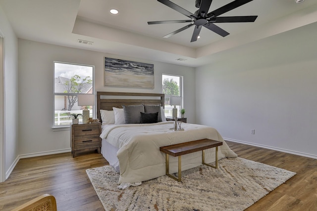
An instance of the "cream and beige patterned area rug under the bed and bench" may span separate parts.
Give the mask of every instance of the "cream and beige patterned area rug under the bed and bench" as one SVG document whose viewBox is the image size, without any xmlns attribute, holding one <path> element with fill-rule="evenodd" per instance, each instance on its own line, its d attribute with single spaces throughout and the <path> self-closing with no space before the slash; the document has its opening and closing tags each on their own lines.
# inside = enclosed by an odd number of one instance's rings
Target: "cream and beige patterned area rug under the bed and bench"
<svg viewBox="0 0 317 211">
<path fill-rule="evenodd" d="M 119 174 L 111 166 L 86 172 L 106 211 L 243 211 L 296 174 L 224 158 L 218 169 L 202 165 L 182 171 L 182 182 L 164 175 L 120 190 Z"/>
</svg>

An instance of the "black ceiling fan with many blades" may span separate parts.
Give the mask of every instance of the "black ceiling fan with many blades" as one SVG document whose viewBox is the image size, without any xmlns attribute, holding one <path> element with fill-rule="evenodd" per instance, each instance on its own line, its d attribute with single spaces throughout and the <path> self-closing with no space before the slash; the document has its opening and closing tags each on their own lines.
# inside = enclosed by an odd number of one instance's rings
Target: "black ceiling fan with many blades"
<svg viewBox="0 0 317 211">
<path fill-rule="evenodd" d="M 159 2 L 165 4 L 166 6 L 176 10 L 177 12 L 186 15 L 191 18 L 191 20 L 168 20 L 168 21 L 150 21 L 148 24 L 162 24 L 162 23 L 190 23 L 183 28 L 180 28 L 168 35 L 165 35 L 163 38 L 169 38 L 172 35 L 175 35 L 185 29 L 188 29 L 192 26 L 195 26 L 194 33 L 190 42 L 195 42 L 198 39 L 199 33 L 202 29 L 202 26 L 213 31 L 214 33 L 225 37 L 229 35 L 228 32 L 224 31 L 220 27 L 216 26 L 214 23 L 237 23 L 237 22 L 254 22 L 258 16 L 229 16 L 229 17 L 218 17 L 219 15 L 228 12 L 232 9 L 235 9 L 243 4 L 246 4 L 252 0 L 234 0 L 212 12 L 209 12 L 212 0 L 196 0 L 195 6 L 199 8 L 194 14 L 187 11 L 186 9 L 178 6 L 177 4 L 171 2 L 170 0 L 158 0 Z"/>
</svg>

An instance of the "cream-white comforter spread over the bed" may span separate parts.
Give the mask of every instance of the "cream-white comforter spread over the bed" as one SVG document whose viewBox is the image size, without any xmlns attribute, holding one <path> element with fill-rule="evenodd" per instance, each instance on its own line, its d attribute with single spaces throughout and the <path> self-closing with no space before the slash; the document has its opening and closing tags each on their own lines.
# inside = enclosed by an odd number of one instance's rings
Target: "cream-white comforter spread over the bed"
<svg viewBox="0 0 317 211">
<path fill-rule="evenodd" d="M 174 122 L 155 124 L 111 125 L 103 127 L 101 138 L 117 147 L 120 165 L 118 184 L 134 183 L 153 179 L 165 174 L 165 154 L 159 147 L 192 140 L 209 138 L 222 141 L 218 148 L 218 159 L 236 157 L 213 127 L 182 124 L 183 131 L 174 131 Z M 205 162 L 215 161 L 215 149 L 205 151 Z M 170 157 L 169 172 L 177 172 L 178 160 Z M 202 163 L 202 152 L 182 156 L 182 170 L 191 169 Z"/>
</svg>

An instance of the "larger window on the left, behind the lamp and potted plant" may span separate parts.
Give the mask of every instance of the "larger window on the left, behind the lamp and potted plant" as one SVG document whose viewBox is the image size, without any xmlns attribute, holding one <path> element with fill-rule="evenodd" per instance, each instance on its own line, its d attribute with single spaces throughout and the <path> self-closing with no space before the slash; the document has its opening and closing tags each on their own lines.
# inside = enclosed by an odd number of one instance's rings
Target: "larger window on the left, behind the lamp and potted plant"
<svg viewBox="0 0 317 211">
<path fill-rule="evenodd" d="M 54 127 L 69 126 L 70 114 L 82 114 L 77 94 L 94 94 L 94 66 L 54 62 Z M 88 106 L 93 117 L 92 106 Z M 82 118 L 79 118 L 82 122 Z"/>
</svg>

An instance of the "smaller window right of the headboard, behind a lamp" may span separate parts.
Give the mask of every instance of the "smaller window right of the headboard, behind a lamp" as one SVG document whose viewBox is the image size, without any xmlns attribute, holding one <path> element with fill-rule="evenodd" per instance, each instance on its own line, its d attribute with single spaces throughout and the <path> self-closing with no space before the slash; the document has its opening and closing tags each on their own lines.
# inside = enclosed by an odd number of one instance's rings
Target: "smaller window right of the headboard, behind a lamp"
<svg viewBox="0 0 317 211">
<path fill-rule="evenodd" d="M 162 74 L 162 93 L 165 94 L 165 117 L 172 117 L 173 105 L 169 104 L 169 97 L 179 96 L 181 97 L 181 105 L 177 105 L 177 117 L 179 117 L 179 111 L 183 107 L 183 77 L 182 76 L 172 76 Z"/>
</svg>

